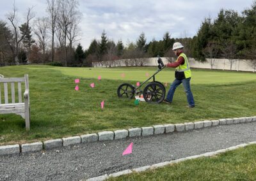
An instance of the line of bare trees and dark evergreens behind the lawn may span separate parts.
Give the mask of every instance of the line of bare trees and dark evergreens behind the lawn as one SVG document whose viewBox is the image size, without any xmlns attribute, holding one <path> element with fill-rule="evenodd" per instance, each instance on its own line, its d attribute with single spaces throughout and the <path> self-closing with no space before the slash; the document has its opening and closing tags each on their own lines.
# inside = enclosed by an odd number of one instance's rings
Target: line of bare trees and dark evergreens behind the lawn
<svg viewBox="0 0 256 181">
<path fill-rule="evenodd" d="M 51 62 L 63 66 L 115 66 L 117 59 L 125 59 L 127 66 L 143 66 L 148 57 L 167 57 L 174 61 L 172 45 L 180 41 L 189 57 L 204 62 L 225 58 L 230 69 L 236 59 L 248 59 L 256 69 L 256 1 L 252 6 L 238 13 L 221 9 L 216 18 L 205 18 L 193 38 L 172 38 L 167 31 L 162 40 L 147 43 L 145 33 L 135 42 L 117 42 L 108 38 L 105 31 L 100 40 L 92 40 L 84 50 L 79 41 L 81 13 L 77 0 L 47 0 L 47 17 L 35 18 L 33 7 L 28 8 L 26 21 L 19 24 L 17 10 L 0 20 L 0 62 L 31 63 Z"/>
</svg>

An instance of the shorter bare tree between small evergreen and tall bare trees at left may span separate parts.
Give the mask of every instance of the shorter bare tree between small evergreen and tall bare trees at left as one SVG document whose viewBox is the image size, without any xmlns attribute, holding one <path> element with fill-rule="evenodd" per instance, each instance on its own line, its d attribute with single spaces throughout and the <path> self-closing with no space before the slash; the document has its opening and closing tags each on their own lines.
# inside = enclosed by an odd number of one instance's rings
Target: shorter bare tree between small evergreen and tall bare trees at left
<svg viewBox="0 0 256 181">
<path fill-rule="evenodd" d="M 43 50 L 43 64 L 45 63 L 45 48 L 48 43 L 47 27 L 47 18 L 37 18 L 34 33 L 38 38 L 40 48 Z"/>
</svg>

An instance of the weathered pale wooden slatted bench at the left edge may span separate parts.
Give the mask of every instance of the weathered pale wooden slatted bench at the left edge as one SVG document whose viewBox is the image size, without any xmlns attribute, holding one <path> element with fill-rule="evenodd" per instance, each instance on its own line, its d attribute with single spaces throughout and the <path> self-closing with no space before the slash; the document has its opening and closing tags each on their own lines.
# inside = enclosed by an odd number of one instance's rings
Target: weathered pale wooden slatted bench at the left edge
<svg viewBox="0 0 256 181">
<path fill-rule="evenodd" d="M 22 102 L 22 86 L 24 82 L 25 90 Z M 8 85 L 11 89 L 8 92 Z M 18 87 L 15 98 L 15 85 Z M 3 94 L 2 94 L 3 92 Z M 8 97 L 10 96 L 10 97 Z M 12 100 L 12 101 L 11 101 Z M 4 101 L 4 103 L 3 103 Z M 21 115 L 26 121 L 26 129 L 30 129 L 30 106 L 29 106 L 29 83 L 28 75 L 21 78 L 0 78 L 0 114 L 15 113 Z"/>
</svg>

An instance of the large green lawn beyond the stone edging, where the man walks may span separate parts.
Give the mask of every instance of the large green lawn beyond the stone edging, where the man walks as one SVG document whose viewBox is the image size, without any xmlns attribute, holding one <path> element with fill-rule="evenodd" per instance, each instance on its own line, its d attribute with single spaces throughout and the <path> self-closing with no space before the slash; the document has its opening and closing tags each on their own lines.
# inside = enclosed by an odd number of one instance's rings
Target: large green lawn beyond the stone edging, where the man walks
<svg viewBox="0 0 256 181">
<path fill-rule="evenodd" d="M 256 74 L 193 69 L 191 89 L 196 108 L 186 108 L 186 95 L 180 86 L 172 105 L 140 103 L 120 99 L 121 83 L 136 85 L 156 68 L 58 68 L 52 66 L 8 66 L 0 68 L 5 77 L 29 75 L 31 130 L 19 115 L 0 115 L 0 145 L 44 141 L 51 138 L 97 133 L 198 120 L 214 120 L 256 115 Z M 174 69 L 157 74 L 160 82 L 173 81 Z M 121 74 L 125 73 L 125 78 Z M 97 80 L 101 75 L 102 80 Z M 75 78 L 80 78 L 75 91 Z M 95 88 L 90 83 L 95 83 Z M 3 92 L 3 87 L 1 88 Z M 100 102 L 104 100 L 104 110 Z M 2 98 L 3 101 L 3 98 Z"/>
</svg>

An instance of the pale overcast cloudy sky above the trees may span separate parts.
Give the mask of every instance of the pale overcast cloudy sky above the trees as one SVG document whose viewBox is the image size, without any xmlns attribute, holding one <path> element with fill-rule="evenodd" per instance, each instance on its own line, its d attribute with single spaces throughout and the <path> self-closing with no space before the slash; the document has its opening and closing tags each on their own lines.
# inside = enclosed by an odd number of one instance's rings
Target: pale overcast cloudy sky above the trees
<svg viewBox="0 0 256 181">
<path fill-rule="evenodd" d="M 20 21 L 31 7 L 36 17 L 46 16 L 46 0 L 16 0 Z M 168 31 L 172 38 L 193 37 L 205 17 L 216 18 L 221 8 L 241 13 L 252 0 L 79 0 L 82 13 L 79 43 L 88 48 L 105 30 L 109 39 L 135 42 L 143 32 L 147 42 L 161 40 Z M 13 0 L 0 0 L 0 19 L 12 11 Z"/>
</svg>

